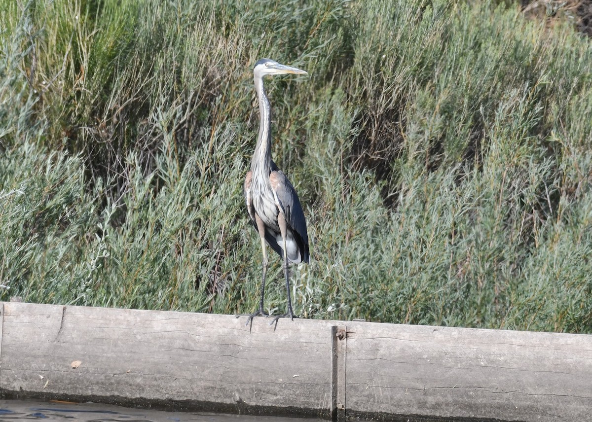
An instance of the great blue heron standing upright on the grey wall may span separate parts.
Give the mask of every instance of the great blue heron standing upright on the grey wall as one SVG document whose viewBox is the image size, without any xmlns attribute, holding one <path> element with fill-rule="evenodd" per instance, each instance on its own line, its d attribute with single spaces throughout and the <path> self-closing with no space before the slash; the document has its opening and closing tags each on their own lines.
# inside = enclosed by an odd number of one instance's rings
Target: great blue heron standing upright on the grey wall
<svg viewBox="0 0 592 422">
<path fill-rule="evenodd" d="M 308 262 L 310 256 L 306 220 L 304 220 L 298 195 L 287 176 L 278 169 L 271 159 L 271 108 L 263 88 L 263 76 L 284 73 L 307 74 L 304 70 L 280 65 L 269 59 L 259 60 L 253 69 L 255 91 L 259 97 L 260 127 L 257 146 L 251 160 L 251 169 L 244 179 L 244 199 L 253 226 L 261 239 L 263 276 L 259 309 L 253 314 L 243 314 L 249 317 L 245 325 L 252 323 L 253 318 L 257 315 L 268 316 L 263 310 L 265 277 L 268 268 L 265 243 L 269 244 L 284 259 L 284 274 L 288 293 L 288 312 L 276 316 L 269 325 L 277 324 L 279 318 L 293 319 L 296 317 L 290 299 L 288 268 L 290 263 Z M 239 316 L 241 315 L 237 315 L 237 317 Z"/>
</svg>

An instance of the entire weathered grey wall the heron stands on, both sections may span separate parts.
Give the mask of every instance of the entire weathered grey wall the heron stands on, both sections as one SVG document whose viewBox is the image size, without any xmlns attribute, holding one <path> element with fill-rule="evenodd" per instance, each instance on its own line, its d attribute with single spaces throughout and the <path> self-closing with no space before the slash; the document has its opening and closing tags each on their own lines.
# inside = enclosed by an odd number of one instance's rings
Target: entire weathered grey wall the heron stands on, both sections
<svg viewBox="0 0 592 422">
<path fill-rule="evenodd" d="M 584 421 L 592 336 L 0 302 L 0 389 L 351 420 Z M 449 420 L 449 419 L 446 419 Z"/>
</svg>

